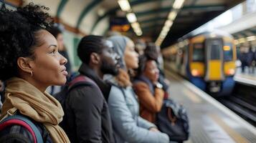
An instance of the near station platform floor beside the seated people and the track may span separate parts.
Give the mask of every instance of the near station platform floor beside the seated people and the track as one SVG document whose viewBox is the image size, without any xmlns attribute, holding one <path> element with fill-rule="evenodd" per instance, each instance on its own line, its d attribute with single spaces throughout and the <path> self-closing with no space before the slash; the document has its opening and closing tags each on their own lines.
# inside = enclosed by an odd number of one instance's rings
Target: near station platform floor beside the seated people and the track
<svg viewBox="0 0 256 143">
<path fill-rule="evenodd" d="M 166 71 L 171 99 L 189 115 L 190 136 L 185 143 L 256 142 L 256 128 L 179 75 Z"/>
</svg>

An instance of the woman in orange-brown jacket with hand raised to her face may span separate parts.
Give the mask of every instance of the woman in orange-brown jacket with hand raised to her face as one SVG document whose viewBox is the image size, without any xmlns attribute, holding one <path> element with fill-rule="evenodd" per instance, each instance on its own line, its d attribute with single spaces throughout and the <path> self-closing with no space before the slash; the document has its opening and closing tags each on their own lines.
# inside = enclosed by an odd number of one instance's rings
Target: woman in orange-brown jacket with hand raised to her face
<svg viewBox="0 0 256 143">
<path fill-rule="evenodd" d="M 133 88 L 138 95 L 140 115 L 149 122 L 156 122 L 156 113 L 163 105 L 163 86 L 158 82 L 159 70 L 156 61 L 141 56 Z"/>
</svg>

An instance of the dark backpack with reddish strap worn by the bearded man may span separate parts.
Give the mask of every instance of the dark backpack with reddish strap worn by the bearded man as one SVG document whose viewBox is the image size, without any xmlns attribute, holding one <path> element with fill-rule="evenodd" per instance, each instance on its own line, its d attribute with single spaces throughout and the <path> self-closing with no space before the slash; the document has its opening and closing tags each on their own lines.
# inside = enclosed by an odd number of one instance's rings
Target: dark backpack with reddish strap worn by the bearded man
<svg viewBox="0 0 256 143">
<path fill-rule="evenodd" d="M 70 82 L 67 82 L 67 84 L 65 84 L 65 87 L 58 92 L 57 94 L 54 94 L 53 97 L 55 97 L 55 99 L 57 99 L 60 104 L 62 105 L 62 109 L 64 112 L 66 112 L 66 103 L 67 103 L 67 97 L 69 95 L 69 92 L 76 88 L 76 87 L 80 87 L 80 86 L 95 86 L 97 88 L 98 85 L 90 78 L 84 76 L 84 75 L 78 75 L 75 77 L 70 77 L 71 79 L 69 79 Z M 67 117 L 64 115 L 62 122 L 60 122 L 60 127 L 62 127 L 62 129 L 65 129 L 65 124 L 67 124 Z"/>
</svg>

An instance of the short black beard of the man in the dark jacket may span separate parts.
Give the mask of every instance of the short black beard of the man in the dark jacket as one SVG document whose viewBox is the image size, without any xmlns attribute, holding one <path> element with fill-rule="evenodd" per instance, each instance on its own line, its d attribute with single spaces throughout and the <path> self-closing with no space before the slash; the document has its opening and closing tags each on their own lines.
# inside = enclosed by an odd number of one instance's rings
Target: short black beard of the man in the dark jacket
<svg viewBox="0 0 256 143">
<path fill-rule="evenodd" d="M 105 60 L 103 60 L 100 70 L 103 74 L 111 74 L 113 76 L 118 75 L 118 66 L 116 64 L 109 64 Z"/>
</svg>

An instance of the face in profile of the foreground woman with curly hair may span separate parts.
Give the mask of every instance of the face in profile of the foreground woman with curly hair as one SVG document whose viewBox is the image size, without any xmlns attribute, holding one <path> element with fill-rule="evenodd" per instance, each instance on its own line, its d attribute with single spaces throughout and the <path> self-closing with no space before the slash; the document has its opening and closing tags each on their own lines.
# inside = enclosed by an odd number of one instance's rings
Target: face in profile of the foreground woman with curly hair
<svg viewBox="0 0 256 143">
<path fill-rule="evenodd" d="M 58 52 L 57 40 L 46 30 L 37 31 L 40 46 L 34 48 L 32 78 L 43 86 L 63 85 L 66 82 L 67 59 Z"/>
</svg>

